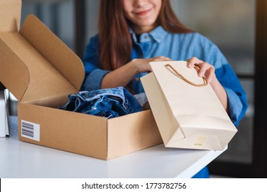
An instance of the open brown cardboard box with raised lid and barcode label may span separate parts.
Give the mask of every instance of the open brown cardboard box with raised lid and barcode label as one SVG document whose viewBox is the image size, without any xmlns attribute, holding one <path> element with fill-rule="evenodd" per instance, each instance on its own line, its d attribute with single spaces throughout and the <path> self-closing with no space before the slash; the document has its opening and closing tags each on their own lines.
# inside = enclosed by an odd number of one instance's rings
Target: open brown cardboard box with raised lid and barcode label
<svg viewBox="0 0 267 192">
<path fill-rule="evenodd" d="M 18 99 L 21 141 L 104 160 L 162 143 L 151 110 L 114 119 L 59 110 L 84 65 L 36 16 L 18 31 L 20 12 L 20 0 L 0 0 L 0 82 Z"/>
</svg>

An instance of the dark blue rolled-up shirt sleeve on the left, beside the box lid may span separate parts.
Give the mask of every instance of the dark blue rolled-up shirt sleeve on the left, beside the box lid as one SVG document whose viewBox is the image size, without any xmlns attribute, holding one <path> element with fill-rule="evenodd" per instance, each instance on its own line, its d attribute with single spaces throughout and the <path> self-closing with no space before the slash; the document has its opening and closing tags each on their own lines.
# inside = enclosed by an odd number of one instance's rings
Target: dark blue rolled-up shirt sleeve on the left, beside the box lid
<svg viewBox="0 0 267 192">
<path fill-rule="evenodd" d="M 100 89 L 103 77 L 110 71 L 105 71 L 100 67 L 99 38 L 97 35 L 90 38 L 82 62 L 84 63 L 86 75 L 84 77 L 84 82 L 81 85 L 81 91 Z"/>
</svg>

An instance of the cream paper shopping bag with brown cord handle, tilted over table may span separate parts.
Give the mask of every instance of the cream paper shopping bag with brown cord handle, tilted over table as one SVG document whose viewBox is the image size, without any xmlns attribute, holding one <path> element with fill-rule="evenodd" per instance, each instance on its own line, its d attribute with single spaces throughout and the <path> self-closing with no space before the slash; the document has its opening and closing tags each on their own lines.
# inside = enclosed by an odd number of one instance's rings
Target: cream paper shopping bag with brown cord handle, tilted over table
<svg viewBox="0 0 267 192">
<path fill-rule="evenodd" d="M 141 77 L 165 147 L 223 150 L 237 129 L 216 93 L 185 61 L 150 62 Z"/>
</svg>

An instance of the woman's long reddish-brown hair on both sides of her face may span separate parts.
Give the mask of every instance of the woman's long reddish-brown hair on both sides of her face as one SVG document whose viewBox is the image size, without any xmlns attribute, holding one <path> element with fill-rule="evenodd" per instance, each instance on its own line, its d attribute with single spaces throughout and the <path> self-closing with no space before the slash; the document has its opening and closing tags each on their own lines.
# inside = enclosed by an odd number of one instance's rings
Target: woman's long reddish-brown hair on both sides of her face
<svg viewBox="0 0 267 192">
<path fill-rule="evenodd" d="M 179 22 L 169 0 L 162 0 L 162 8 L 156 22 L 171 33 L 192 32 Z M 132 39 L 128 23 L 124 15 L 123 0 L 101 0 L 99 40 L 102 69 L 118 69 L 131 59 Z"/>
</svg>

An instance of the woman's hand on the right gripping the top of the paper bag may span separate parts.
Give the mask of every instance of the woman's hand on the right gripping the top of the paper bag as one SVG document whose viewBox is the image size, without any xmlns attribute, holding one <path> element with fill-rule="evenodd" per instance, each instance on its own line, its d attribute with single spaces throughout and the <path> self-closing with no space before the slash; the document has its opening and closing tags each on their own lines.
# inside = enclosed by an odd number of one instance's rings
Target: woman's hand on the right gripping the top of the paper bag
<svg viewBox="0 0 267 192">
<path fill-rule="evenodd" d="M 199 60 L 198 58 L 190 58 L 188 61 L 188 68 L 192 68 L 194 66 L 199 67 L 199 77 L 206 77 L 207 82 L 212 82 L 215 76 L 215 68 L 212 64 L 208 62 L 203 62 L 203 60 Z"/>
</svg>

